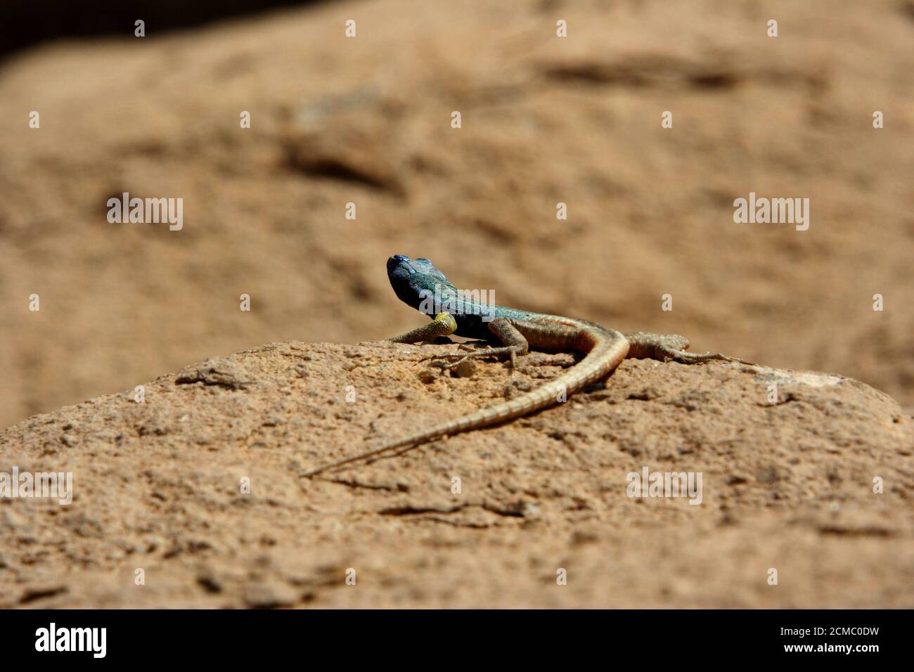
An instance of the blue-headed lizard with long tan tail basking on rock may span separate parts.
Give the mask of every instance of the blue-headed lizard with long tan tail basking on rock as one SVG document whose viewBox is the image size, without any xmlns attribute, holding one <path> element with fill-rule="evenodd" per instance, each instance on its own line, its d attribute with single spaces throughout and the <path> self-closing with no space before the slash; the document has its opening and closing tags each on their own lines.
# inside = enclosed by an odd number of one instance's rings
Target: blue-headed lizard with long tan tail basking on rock
<svg viewBox="0 0 914 672">
<path fill-rule="evenodd" d="M 587 320 L 484 304 L 477 301 L 473 294 L 457 289 L 428 259 L 410 259 L 406 255 L 395 254 L 388 259 L 388 279 L 400 301 L 431 318 L 426 325 L 388 338 L 388 343 L 421 343 L 440 336 L 455 335 L 501 344 L 466 354 L 445 355 L 441 359 L 446 361 L 436 363 L 441 368 L 457 367 L 472 357 L 510 357 L 514 368 L 516 358 L 525 356 L 530 347 L 553 352 L 578 351 L 585 357 L 558 378 L 514 399 L 442 421 L 375 450 L 324 464 L 303 474 L 306 477 L 377 457 L 396 448 L 411 450 L 435 439 L 513 420 L 552 406 L 590 383 L 606 378 L 626 357 L 683 364 L 710 360 L 752 364 L 738 357 L 717 353 L 686 352 L 689 341 L 685 336 L 646 332 L 622 334 Z M 434 309 L 436 305 L 447 306 L 451 310 L 437 312 Z"/>
</svg>

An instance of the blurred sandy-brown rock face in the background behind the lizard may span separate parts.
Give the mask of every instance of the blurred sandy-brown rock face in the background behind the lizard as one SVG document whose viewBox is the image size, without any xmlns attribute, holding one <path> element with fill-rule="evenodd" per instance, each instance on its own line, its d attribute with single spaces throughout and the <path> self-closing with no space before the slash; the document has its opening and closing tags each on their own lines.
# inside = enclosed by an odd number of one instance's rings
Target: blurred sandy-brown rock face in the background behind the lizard
<svg viewBox="0 0 914 672">
<path fill-rule="evenodd" d="M 397 252 L 910 407 L 912 17 L 377 0 L 23 52 L 0 70 L 0 426 L 260 343 L 404 331 Z M 123 192 L 183 198 L 184 228 L 109 223 Z M 750 192 L 810 198 L 810 229 L 735 224 Z"/>
</svg>

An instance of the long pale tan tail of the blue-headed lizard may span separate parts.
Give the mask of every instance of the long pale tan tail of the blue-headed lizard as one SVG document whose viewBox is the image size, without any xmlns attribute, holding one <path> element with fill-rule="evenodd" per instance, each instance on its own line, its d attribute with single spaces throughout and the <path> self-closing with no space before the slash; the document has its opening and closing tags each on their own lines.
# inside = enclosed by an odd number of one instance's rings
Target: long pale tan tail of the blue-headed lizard
<svg viewBox="0 0 914 672">
<path fill-rule="evenodd" d="M 590 385 L 594 380 L 599 380 L 608 376 L 613 369 L 622 363 L 622 359 L 628 354 L 629 342 L 617 331 L 607 329 L 599 335 L 591 336 L 590 351 L 587 357 L 584 357 L 577 366 L 566 371 L 557 379 L 550 380 L 545 385 L 538 387 L 522 394 L 515 399 L 507 400 L 503 403 L 490 406 L 488 408 L 468 413 L 461 418 L 455 418 L 451 421 L 441 422 L 424 432 L 417 432 L 405 438 L 398 439 L 392 443 L 387 443 L 380 448 L 367 453 L 360 453 L 339 462 L 324 464 L 309 472 L 304 476 L 314 476 L 328 469 L 365 460 L 374 457 L 380 453 L 387 453 L 395 448 L 413 445 L 418 447 L 421 443 L 440 439 L 442 436 L 448 436 L 465 432 L 480 427 L 488 427 L 498 422 L 504 422 L 526 415 L 533 411 L 553 406 L 558 403 L 560 396 L 568 396 L 573 392 Z"/>
</svg>

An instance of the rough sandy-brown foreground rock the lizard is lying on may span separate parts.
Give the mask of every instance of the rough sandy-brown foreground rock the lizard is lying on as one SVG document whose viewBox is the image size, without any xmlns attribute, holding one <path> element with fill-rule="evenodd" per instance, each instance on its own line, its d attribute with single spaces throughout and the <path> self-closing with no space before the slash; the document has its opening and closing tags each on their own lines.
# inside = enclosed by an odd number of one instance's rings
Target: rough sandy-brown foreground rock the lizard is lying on
<svg viewBox="0 0 914 672">
<path fill-rule="evenodd" d="M 0 464 L 74 496 L 0 500 L 0 607 L 914 606 L 912 423 L 840 376 L 626 360 L 532 417 L 300 476 L 575 361 L 422 359 L 454 350 L 274 343 L 5 430 Z M 627 496 L 645 467 L 700 472 L 701 503 Z"/>
</svg>

